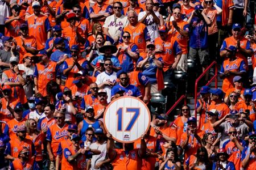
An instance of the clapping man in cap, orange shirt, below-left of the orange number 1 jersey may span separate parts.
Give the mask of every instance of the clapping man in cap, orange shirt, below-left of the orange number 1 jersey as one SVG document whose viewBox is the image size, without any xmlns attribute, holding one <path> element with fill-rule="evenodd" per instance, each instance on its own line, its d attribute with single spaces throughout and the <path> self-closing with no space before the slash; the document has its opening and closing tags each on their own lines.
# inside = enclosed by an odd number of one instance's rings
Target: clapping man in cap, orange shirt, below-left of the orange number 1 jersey
<svg viewBox="0 0 256 170">
<path fill-rule="evenodd" d="M 26 53 L 37 54 L 36 39 L 34 36 L 28 36 L 28 25 L 20 24 L 20 36 L 14 39 L 17 42 L 16 50 L 19 52 L 19 63 L 23 63 L 23 56 Z"/>
</svg>

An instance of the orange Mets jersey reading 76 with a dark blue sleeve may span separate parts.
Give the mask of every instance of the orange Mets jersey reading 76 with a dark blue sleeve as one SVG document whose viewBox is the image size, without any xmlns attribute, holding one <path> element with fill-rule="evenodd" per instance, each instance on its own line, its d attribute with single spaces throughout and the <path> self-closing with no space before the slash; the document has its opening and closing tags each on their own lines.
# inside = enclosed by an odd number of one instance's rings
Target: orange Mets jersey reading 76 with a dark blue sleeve
<svg viewBox="0 0 256 170">
<path fill-rule="evenodd" d="M 172 35 L 168 34 L 166 40 L 162 40 L 160 37 L 155 39 L 155 48 L 163 48 L 163 52 L 156 53 L 156 58 L 162 57 L 164 61 L 163 71 L 170 69 L 170 66 L 175 61 L 175 56 L 181 54 L 181 48 L 178 42 L 172 39 Z"/>
</svg>

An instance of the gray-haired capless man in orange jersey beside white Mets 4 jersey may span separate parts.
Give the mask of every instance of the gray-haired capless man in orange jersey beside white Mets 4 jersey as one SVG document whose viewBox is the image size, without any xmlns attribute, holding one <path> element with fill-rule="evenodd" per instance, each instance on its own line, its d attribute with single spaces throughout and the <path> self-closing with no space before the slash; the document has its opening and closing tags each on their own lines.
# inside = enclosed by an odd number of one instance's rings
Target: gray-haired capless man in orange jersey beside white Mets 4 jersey
<svg viewBox="0 0 256 170">
<path fill-rule="evenodd" d="M 129 24 L 123 28 L 123 32 L 127 31 L 130 33 L 130 41 L 138 46 L 139 53 L 144 58 L 146 56 L 146 42 L 150 41 L 150 35 L 148 33 L 147 27 L 143 23 L 138 22 L 138 16 L 135 11 L 127 12 L 127 17 Z"/>
</svg>

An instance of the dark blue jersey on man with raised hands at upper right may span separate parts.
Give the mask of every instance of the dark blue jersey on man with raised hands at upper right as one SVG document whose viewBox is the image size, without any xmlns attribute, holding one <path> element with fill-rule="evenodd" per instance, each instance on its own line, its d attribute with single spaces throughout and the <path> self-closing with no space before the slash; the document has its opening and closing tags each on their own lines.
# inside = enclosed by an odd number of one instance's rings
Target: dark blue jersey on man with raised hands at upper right
<svg viewBox="0 0 256 170">
<path fill-rule="evenodd" d="M 204 19 L 193 16 L 190 27 L 189 46 L 194 49 L 208 48 L 208 25 Z"/>
</svg>

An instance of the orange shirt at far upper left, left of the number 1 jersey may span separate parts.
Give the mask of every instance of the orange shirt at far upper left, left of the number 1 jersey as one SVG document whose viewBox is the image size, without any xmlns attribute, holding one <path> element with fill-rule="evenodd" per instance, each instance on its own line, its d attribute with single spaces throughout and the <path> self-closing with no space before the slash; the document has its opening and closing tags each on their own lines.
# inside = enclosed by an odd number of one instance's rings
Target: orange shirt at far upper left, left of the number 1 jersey
<svg viewBox="0 0 256 170">
<path fill-rule="evenodd" d="M 14 16 L 9 16 L 5 20 L 12 19 Z M 25 23 L 24 16 L 18 20 L 13 20 L 12 22 L 5 25 L 5 36 L 18 37 L 20 24 Z"/>
</svg>

